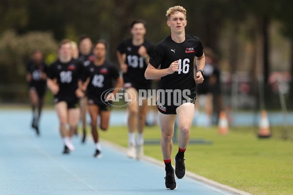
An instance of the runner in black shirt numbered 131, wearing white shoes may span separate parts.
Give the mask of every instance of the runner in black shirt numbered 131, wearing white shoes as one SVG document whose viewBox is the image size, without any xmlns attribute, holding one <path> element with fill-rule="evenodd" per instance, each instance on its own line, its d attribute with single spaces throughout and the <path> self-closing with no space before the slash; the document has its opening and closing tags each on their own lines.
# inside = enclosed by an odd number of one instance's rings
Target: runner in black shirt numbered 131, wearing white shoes
<svg viewBox="0 0 293 195">
<path fill-rule="evenodd" d="M 144 39 L 145 26 L 144 20 L 133 20 L 130 26 L 132 39 L 122 41 L 117 48 L 117 58 L 123 71 L 124 87 L 132 93 L 132 96 L 129 94 L 128 98 L 136 101 L 128 106 L 127 156 L 131 158 L 136 156 L 138 159 L 143 155 L 147 99 L 142 101 L 142 105 L 138 105 L 138 98 L 132 99 L 131 97 L 138 97 L 140 89 L 151 89 L 151 81 L 146 80 L 144 74 L 154 45 Z M 136 128 L 138 128 L 138 134 L 135 143 Z"/>
</svg>

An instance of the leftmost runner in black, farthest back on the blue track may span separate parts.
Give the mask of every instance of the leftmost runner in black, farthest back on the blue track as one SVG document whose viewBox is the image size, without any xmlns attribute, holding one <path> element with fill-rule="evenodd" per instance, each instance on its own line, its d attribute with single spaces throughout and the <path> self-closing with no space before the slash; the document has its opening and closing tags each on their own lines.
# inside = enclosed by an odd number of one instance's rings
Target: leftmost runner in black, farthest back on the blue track
<svg viewBox="0 0 293 195">
<path fill-rule="evenodd" d="M 46 72 L 47 64 L 42 61 L 42 52 L 39 49 L 33 51 L 33 61 L 27 65 L 26 79 L 29 82 L 29 96 L 33 110 L 32 127 L 36 129 L 37 135 L 39 132 L 39 120 L 44 103 L 46 92 Z M 38 112 L 36 107 L 38 106 Z"/>
</svg>

